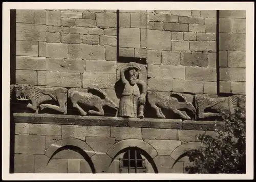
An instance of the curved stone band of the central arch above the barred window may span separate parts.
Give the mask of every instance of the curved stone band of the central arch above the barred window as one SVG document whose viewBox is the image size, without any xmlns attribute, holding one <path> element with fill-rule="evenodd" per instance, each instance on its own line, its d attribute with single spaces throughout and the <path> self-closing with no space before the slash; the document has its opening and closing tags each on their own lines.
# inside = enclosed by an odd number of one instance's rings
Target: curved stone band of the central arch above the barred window
<svg viewBox="0 0 256 182">
<path fill-rule="evenodd" d="M 144 142 L 143 140 L 139 139 L 126 139 L 114 144 L 106 154 L 108 154 L 111 158 L 115 158 L 116 154 L 128 147 L 137 147 L 144 150 L 151 158 L 157 156 L 157 151 L 153 148 L 150 144 Z"/>
</svg>

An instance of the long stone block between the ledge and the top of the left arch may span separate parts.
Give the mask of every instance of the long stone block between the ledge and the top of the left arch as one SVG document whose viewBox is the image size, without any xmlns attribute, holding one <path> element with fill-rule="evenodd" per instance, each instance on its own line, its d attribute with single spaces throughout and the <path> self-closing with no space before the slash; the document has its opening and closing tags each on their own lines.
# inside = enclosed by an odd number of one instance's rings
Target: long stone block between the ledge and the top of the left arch
<svg viewBox="0 0 256 182">
<path fill-rule="evenodd" d="M 86 140 L 85 137 L 110 137 L 110 127 L 62 125 L 62 139 L 70 137 L 81 140 Z"/>
</svg>

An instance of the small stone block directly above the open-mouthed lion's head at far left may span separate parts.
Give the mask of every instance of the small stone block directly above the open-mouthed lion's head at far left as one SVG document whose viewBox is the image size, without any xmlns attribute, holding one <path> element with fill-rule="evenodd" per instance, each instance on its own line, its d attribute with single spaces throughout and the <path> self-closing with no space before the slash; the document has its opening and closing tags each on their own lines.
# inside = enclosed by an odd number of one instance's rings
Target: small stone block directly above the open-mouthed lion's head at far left
<svg viewBox="0 0 256 182">
<path fill-rule="evenodd" d="M 36 71 L 16 70 L 16 83 L 36 85 Z"/>
</svg>

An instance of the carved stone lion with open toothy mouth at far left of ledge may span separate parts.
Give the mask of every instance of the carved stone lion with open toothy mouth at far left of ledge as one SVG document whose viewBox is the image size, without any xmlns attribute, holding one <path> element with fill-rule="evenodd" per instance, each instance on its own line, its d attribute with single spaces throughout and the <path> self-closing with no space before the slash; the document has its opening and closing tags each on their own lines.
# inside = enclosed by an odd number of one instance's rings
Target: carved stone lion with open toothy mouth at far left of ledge
<svg viewBox="0 0 256 182">
<path fill-rule="evenodd" d="M 38 110 L 50 108 L 66 115 L 67 113 L 67 89 L 60 87 L 37 87 L 31 84 L 15 84 L 15 96 L 19 101 L 28 101 L 27 108 Z M 48 101 L 56 101 L 58 105 L 47 104 Z"/>
</svg>

